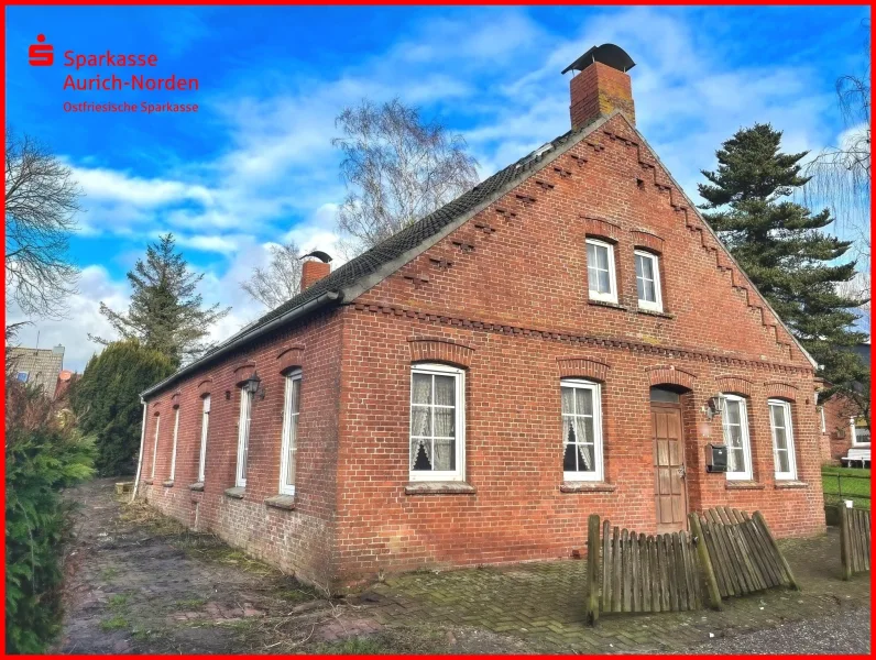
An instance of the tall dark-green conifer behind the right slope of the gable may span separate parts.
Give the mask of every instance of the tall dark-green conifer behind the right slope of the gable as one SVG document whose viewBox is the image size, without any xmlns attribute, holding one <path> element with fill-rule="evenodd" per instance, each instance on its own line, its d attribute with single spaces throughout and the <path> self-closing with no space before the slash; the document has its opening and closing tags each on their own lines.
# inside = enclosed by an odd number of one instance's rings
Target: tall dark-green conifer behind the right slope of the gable
<svg viewBox="0 0 876 660">
<path fill-rule="evenodd" d="M 854 330 L 855 308 L 866 300 L 841 295 L 855 276 L 843 256 L 850 241 L 821 231 L 829 210 L 813 213 L 785 199 L 804 186 L 800 161 L 807 152 L 780 151 L 781 132 L 770 124 L 740 130 L 718 151 L 718 169 L 702 170 L 700 196 L 705 219 L 730 249 L 789 330 L 824 365 L 819 375 L 836 389 L 869 381 L 851 349 L 866 336 Z M 825 393 L 825 394 L 828 394 Z"/>
</svg>

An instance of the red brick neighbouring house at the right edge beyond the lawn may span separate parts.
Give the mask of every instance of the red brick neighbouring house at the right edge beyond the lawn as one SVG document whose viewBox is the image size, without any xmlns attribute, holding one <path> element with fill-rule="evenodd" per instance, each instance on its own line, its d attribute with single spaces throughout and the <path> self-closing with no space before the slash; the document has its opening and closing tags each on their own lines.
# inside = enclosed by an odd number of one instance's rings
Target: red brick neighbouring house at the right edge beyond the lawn
<svg viewBox="0 0 876 660">
<path fill-rule="evenodd" d="M 855 352 L 869 365 L 869 342 L 858 344 Z M 839 465 L 850 455 L 866 457 L 869 462 L 869 425 L 857 404 L 843 396 L 833 396 L 819 406 L 821 424 L 821 458 L 824 463 Z M 866 450 L 861 452 L 861 450 Z"/>
</svg>

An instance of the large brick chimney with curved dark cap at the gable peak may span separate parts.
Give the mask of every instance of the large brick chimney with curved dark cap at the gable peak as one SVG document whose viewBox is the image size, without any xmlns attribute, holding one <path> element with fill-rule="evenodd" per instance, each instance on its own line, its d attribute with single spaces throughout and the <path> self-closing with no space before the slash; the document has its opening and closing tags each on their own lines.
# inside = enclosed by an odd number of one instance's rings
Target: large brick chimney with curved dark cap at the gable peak
<svg viewBox="0 0 876 660">
<path fill-rule="evenodd" d="M 572 129 L 579 129 L 600 117 L 620 110 L 633 123 L 633 87 L 626 73 L 636 63 L 614 44 L 593 46 L 562 73 L 579 72 L 569 82 Z"/>
</svg>

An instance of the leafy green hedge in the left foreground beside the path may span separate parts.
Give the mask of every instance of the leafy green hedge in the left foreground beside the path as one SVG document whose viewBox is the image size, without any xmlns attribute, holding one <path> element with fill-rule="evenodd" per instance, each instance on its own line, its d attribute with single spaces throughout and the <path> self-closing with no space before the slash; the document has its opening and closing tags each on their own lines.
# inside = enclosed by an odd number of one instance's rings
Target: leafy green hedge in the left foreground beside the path
<svg viewBox="0 0 876 660">
<path fill-rule="evenodd" d="M 7 377 L 7 652 L 39 653 L 61 629 L 69 506 L 61 490 L 88 479 L 94 446 L 37 389 Z"/>
</svg>

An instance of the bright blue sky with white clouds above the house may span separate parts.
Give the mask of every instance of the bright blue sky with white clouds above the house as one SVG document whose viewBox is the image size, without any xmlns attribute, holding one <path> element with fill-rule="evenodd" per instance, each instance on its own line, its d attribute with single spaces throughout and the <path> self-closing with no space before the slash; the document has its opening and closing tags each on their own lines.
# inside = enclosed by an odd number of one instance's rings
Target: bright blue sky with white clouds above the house
<svg viewBox="0 0 876 660">
<path fill-rule="evenodd" d="M 631 72 L 638 128 L 688 191 L 737 129 L 769 121 L 787 151 L 834 144 L 835 79 L 864 66 L 868 8 L 7 8 L 7 117 L 74 169 L 86 197 L 72 242 L 83 268 L 72 318 L 21 340 L 67 346 L 67 367 L 111 334 L 100 300 L 123 309 L 124 273 L 173 231 L 206 273 L 202 294 L 233 312 L 221 338 L 262 310 L 239 283 L 265 246 L 295 239 L 332 252 L 343 188 L 330 140 L 347 105 L 395 96 L 467 140 L 482 176 L 569 128 L 560 70 L 612 42 Z M 56 58 L 155 53 L 189 92 L 64 91 L 68 67 L 31 67 L 46 35 Z M 80 69 L 79 76 L 107 67 Z M 119 69 L 119 74 L 131 69 Z M 65 101 L 198 103 L 196 114 L 67 113 Z M 15 318 L 15 310 L 10 317 Z"/>
</svg>

